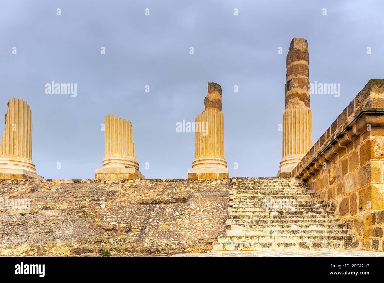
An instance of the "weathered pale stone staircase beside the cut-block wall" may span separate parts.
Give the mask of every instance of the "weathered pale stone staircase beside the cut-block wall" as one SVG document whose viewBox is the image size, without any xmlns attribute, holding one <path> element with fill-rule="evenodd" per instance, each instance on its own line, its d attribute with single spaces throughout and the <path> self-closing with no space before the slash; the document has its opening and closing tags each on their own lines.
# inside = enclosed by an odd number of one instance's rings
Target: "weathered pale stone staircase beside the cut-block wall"
<svg viewBox="0 0 384 283">
<path fill-rule="evenodd" d="M 295 178 L 236 178 L 213 251 L 361 250 L 318 194 Z"/>
</svg>

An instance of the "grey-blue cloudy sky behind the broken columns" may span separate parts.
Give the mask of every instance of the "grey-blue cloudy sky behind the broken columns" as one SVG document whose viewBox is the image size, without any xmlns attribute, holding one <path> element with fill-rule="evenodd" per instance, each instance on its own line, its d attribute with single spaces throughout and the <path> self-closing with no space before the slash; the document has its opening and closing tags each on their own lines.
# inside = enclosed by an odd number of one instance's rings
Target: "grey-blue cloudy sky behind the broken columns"
<svg viewBox="0 0 384 283">
<path fill-rule="evenodd" d="M 107 114 L 131 120 L 147 179 L 184 179 L 194 133 L 176 123 L 194 121 L 217 82 L 230 176 L 275 176 L 292 38 L 308 40 L 311 82 L 340 84 L 339 97 L 311 95 L 315 142 L 369 79 L 384 77 L 383 11 L 382 1 L 2 0 L 0 113 L 11 97 L 31 106 L 33 162 L 46 179 L 94 178 Z M 51 81 L 77 84 L 77 96 L 46 94 Z"/>
</svg>

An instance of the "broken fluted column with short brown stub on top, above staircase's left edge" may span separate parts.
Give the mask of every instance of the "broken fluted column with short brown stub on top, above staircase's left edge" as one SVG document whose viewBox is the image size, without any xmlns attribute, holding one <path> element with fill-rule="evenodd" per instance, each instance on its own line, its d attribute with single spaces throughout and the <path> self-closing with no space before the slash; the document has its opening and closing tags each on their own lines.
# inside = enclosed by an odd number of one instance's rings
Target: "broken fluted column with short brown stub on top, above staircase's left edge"
<svg viewBox="0 0 384 283">
<path fill-rule="evenodd" d="M 221 95 L 220 85 L 208 83 L 205 110 L 195 118 L 195 159 L 188 169 L 188 179 L 228 178 Z"/>
</svg>

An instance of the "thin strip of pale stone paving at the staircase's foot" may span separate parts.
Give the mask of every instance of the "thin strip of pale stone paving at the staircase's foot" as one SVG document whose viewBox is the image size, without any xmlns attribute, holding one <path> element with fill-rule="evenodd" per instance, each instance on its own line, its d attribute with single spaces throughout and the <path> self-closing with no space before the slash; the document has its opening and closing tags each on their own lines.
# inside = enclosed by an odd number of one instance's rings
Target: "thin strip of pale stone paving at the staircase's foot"
<svg viewBox="0 0 384 283">
<path fill-rule="evenodd" d="M 173 256 L 384 256 L 380 251 L 209 251 Z"/>
</svg>

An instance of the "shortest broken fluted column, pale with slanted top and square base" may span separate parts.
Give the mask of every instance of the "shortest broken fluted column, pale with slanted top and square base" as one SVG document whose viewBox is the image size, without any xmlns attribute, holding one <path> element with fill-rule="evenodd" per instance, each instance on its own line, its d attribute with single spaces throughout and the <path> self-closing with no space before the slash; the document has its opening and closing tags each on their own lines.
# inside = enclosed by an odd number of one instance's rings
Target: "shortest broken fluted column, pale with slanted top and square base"
<svg viewBox="0 0 384 283">
<path fill-rule="evenodd" d="M 108 114 L 104 126 L 105 157 L 95 179 L 145 179 L 135 156 L 131 121 Z"/>
</svg>

